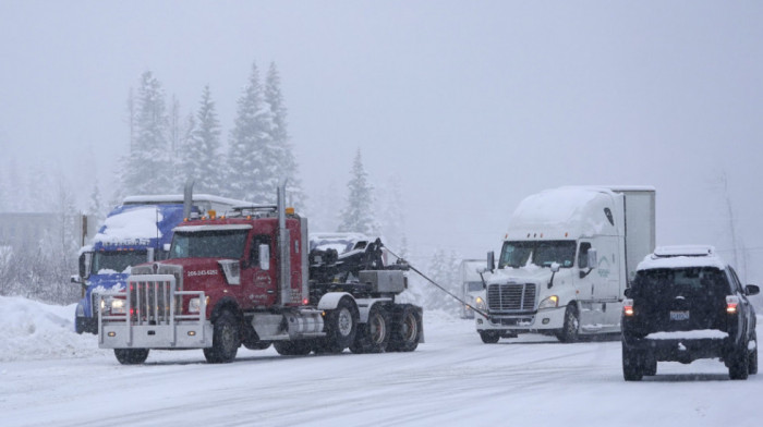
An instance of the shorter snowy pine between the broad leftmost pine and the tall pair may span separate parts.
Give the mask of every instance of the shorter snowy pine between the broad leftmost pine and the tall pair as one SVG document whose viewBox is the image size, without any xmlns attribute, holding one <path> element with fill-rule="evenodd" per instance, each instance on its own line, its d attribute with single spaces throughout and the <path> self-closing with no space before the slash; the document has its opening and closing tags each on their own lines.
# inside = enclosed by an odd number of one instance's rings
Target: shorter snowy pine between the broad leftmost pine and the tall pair
<svg viewBox="0 0 763 427">
<path fill-rule="evenodd" d="M 194 192 L 220 194 L 222 180 L 222 161 L 220 159 L 220 122 L 217 119 L 215 101 L 211 99 L 209 86 L 204 87 L 202 100 L 187 141 L 180 156 L 180 170 L 187 179 L 193 179 Z"/>
</svg>

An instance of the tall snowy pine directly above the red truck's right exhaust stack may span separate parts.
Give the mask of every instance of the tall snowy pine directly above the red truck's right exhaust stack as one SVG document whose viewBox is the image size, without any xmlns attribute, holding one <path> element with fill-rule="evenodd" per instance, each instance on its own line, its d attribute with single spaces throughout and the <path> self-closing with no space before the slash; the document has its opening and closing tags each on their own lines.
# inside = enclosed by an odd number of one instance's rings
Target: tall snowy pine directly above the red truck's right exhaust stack
<svg viewBox="0 0 763 427">
<path fill-rule="evenodd" d="M 271 62 L 265 80 L 265 102 L 270 108 L 269 149 L 263 152 L 263 161 L 266 167 L 265 190 L 272 188 L 269 197 L 275 203 L 275 188 L 282 178 L 288 178 L 287 198 L 291 206 L 302 211 L 305 206 L 305 194 L 302 191 L 302 181 L 299 176 L 296 159 L 289 141 L 287 129 L 287 108 L 281 93 L 281 77 Z"/>
</svg>

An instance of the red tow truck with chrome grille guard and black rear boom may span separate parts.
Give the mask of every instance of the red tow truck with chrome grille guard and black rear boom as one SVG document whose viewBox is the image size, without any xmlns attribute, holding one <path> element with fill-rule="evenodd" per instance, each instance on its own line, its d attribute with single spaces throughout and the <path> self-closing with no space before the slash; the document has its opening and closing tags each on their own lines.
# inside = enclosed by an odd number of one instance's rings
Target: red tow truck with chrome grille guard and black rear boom
<svg viewBox="0 0 763 427">
<path fill-rule="evenodd" d="M 169 259 L 132 268 L 123 292 L 99 296 L 99 346 L 122 364 L 149 350 L 203 349 L 209 363 L 238 349 L 282 355 L 411 352 L 423 310 L 396 302 L 403 260 L 385 265 L 379 240 L 338 254 L 312 251 L 307 219 L 284 206 L 238 206 L 174 229 Z"/>
</svg>

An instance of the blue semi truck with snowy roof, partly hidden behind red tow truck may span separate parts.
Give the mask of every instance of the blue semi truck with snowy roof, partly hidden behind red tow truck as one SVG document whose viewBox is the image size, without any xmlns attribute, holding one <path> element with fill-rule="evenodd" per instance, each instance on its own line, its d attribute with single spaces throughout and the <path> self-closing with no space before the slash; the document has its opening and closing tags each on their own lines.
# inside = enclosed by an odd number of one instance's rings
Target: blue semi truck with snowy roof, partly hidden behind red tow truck
<svg viewBox="0 0 763 427">
<path fill-rule="evenodd" d="M 172 229 L 184 218 L 215 210 L 225 215 L 233 206 L 251 205 L 208 194 L 130 196 L 104 221 L 89 245 L 80 249 L 80 271 L 72 282 L 82 286 L 74 329 L 98 333 L 97 294 L 123 289 L 132 266 L 167 258 Z"/>
</svg>

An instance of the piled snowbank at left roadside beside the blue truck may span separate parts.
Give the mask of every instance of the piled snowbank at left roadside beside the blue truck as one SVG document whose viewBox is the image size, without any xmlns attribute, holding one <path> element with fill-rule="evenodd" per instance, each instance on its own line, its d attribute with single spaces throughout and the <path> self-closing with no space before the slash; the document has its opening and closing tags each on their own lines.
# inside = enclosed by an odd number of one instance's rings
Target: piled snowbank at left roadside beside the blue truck
<svg viewBox="0 0 763 427">
<path fill-rule="evenodd" d="M 0 296 L 0 362 L 78 358 L 104 353 L 95 335 L 74 332 L 75 307 Z"/>
</svg>

